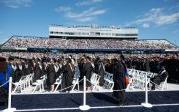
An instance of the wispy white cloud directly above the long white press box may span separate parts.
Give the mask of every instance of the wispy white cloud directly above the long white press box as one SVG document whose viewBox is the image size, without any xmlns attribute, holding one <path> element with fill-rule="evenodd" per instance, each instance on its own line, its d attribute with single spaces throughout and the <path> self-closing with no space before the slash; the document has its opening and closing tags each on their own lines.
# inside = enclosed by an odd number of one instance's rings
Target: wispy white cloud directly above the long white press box
<svg viewBox="0 0 179 112">
<path fill-rule="evenodd" d="M 97 9 L 91 7 L 82 12 L 75 12 L 71 7 L 60 6 L 55 9 L 57 12 L 64 13 L 64 16 L 80 22 L 87 22 L 94 20 L 97 16 L 106 13 L 106 9 Z"/>
</svg>

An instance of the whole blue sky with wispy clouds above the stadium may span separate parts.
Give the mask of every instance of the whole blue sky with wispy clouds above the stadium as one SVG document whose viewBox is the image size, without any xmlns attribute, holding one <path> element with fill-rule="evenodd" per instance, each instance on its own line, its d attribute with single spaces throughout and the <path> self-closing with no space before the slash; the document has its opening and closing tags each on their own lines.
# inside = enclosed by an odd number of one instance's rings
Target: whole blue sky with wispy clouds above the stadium
<svg viewBox="0 0 179 112">
<path fill-rule="evenodd" d="M 179 0 L 0 0 L 0 43 L 48 37 L 50 24 L 134 26 L 141 39 L 179 45 Z"/>
</svg>

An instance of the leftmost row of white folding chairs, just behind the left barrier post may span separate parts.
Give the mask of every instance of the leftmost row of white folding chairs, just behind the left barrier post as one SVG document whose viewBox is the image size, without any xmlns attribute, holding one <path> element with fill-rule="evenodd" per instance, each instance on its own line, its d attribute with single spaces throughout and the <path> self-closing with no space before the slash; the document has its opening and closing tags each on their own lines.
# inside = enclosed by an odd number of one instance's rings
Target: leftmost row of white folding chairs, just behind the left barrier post
<svg viewBox="0 0 179 112">
<path fill-rule="evenodd" d="M 12 92 L 15 93 L 17 90 L 19 90 L 19 92 L 21 93 L 22 90 L 25 90 L 26 88 L 30 87 L 33 76 L 33 73 L 26 76 L 22 76 L 18 82 L 13 83 L 15 88 Z"/>
</svg>

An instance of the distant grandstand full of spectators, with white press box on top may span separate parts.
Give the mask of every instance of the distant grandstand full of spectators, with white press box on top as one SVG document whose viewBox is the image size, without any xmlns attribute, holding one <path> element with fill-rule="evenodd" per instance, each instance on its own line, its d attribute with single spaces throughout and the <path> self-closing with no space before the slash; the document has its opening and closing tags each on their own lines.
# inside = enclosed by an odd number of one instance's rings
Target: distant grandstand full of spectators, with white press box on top
<svg viewBox="0 0 179 112">
<path fill-rule="evenodd" d="M 100 27 L 96 25 L 72 27 L 50 25 L 49 37 L 12 36 L 2 45 L 1 50 L 26 50 L 29 48 L 56 48 L 71 50 L 92 49 L 97 51 L 115 51 L 119 49 L 178 50 L 176 45 L 170 43 L 166 39 L 138 39 L 138 29 L 133 27 Z"/>
</svg>

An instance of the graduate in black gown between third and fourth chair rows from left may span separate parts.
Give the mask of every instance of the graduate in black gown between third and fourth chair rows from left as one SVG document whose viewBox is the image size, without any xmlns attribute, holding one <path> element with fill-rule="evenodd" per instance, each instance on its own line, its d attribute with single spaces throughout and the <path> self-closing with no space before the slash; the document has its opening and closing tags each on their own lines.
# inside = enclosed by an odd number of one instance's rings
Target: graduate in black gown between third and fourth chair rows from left
<svg viewBox="0 0 179 112">
<path fill-rule="evenodd" d="M 65 64 L 62 67 L 62 89 L 67 88 L 72 85 L 73 77 L 74 77 L 74 66 L 72 65 L 72 61 L 68 58 L 65 61 Z M 64 91 L 70 91 L 71 88 L 67 88 Z"/>
</svg>

